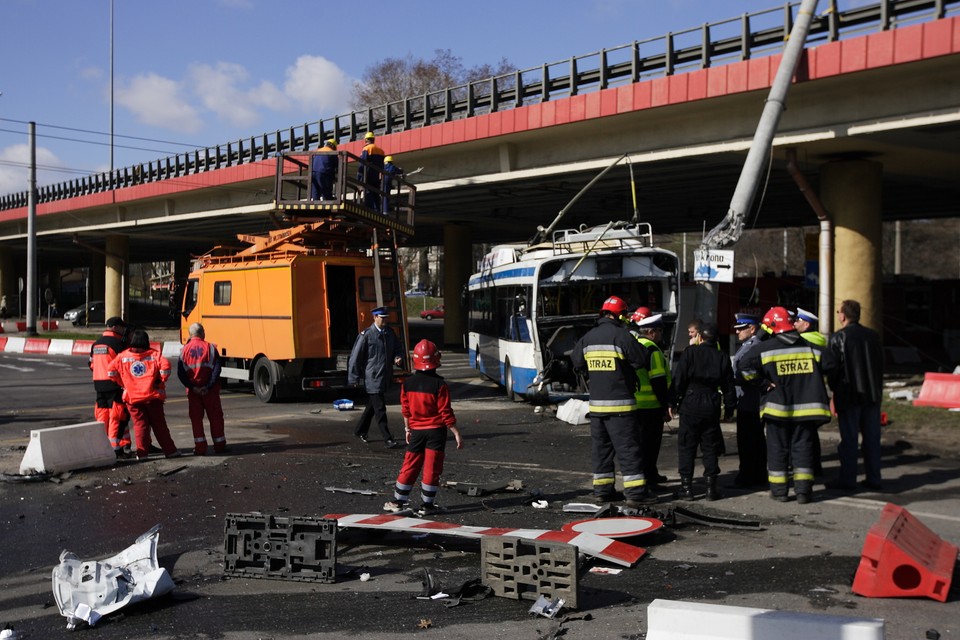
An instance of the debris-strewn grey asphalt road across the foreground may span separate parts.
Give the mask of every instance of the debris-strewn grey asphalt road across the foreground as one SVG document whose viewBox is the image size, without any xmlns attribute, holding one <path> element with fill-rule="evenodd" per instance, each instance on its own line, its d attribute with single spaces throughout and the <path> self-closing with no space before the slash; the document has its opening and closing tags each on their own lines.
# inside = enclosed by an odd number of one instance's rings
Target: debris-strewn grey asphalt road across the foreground
<svg viewBox="0 0 960 640">
<path fill-rule="evenodd" d="M 445 481 L 487 483 L 519 479 L 524 490 L 473 497 L 445 487 L 447 511 L 434 519 L 479 526 L 559 529 L 584 516 L 562 505 L 590 492 L 589 436 L 584 427 L 508 402 L 479 381 L 462 354 L 444 354 L 463 429 L 463 450 L 448 448 Z M 171 384 L 177 389 L 176 383 Z M 419 600 L 429 569 L 452 589 L 481 574 L 479 544 L 437 535 L 359 530 L 340 532 L 335 583 L 228 578 L 223 575 L 228 513 L 319 517 L 379 513 L 390 498 L 403 456 L 376 438 L 352 436 L 357 412 L 330 401 L 263 405 L 244 388 L 224 393 L 230 453 L 176 460 L 121 462 L 76 471 L 57 482 L 0 483 L 0 626 L 30 639 L 59 637 L 65 619 L 51 592 L 50 572 L 64 549 L 83 559 L 107 558 L 161 525 L 160 563 L 176 582 L 170 596 L 127 607 L 102 620 L 97 638 L 643 638 L 647 605 L 656 598 L 761 607 L 838 616 L 883 618 L 886 638 L 960 638 L 956 586 L 946 603 L 927 598 L 854 595 L 867 531 L 887 502 L 908 509 L 943 539 L 960 542 L 960 459 L 884 450 L 887 493 L 840 495 L 817 486 L 808 505 L 777 503 L 763 491 L 726 489 L 724 499 L 682 503 L 699 512 L 759 521 L 762 531 L 683 524 L 626 540 L 647 549 L 618 575 L 585 561 L 579 611 L 562 626 L 528 613 L 532 602 L 490 597 L 447 608 Z M 0 471 L 16 473 L 29 433 L 91 419 L 93 390 L 83 358 L 0 354 Z M 178 445 L 189 450 L 185 399 L 171 393 L 167 417 Z M 402 422 L 390 406 L 394 434 Z M 676 426 L 676 423 L 671 425 Z M 721 484 L 736 468 L 727 425 L 728 455 Z M 837 460 L 835 433 L 824 430 L 829 479 Z M 669 433 L 661 468 L 676 480 L 676 438 Z M 671 484 L 673 486 L 673 484 Z M 361 489 L 376 495 L 327 491 Z M 702 487 L 701 487 L 702 491 Z M 530 506 L 534 497 L 549 506 Z M 664 492 L 654 507 L 667 513 Z M 360 574 L 369 573 L 367 581 Z M 955 581 L 956 582 L 956 581 Z M 589 619 L 572 619 L 589 614 Z M 429 629 L 421 629 L 428 620 Z M 424 623 L 426 624 L 426 623 Z"/>
</svg>

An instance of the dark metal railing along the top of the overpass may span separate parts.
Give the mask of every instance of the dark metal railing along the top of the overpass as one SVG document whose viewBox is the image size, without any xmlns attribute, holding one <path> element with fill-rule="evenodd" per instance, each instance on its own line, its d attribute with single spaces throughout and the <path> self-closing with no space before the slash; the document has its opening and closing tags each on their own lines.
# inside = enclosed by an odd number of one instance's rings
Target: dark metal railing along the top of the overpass
<svg viewBox="0 0 960 640">
<path fill-rule="evenodd" d="M 834 42 L 870 32 L 960 14 L 960 0 L 881 0 L 840 10 L 838 0 L 815 17 L 808 42 Z M 461 118 L 514 109 L 697 69 L 779 53 L 799 2 L 745 13 L 738 18 L 638 40 L 531 69 L 431 91 L 346 115 L 195 149 L 38 188 L 37 202 L 52 202 L 137 184 L 258 162 L 288 152 L 316 149 L 322 140 L 358 140 Z M 28 192 L 0 196 L 0 210 L 27 206 Z"/>
</svg>

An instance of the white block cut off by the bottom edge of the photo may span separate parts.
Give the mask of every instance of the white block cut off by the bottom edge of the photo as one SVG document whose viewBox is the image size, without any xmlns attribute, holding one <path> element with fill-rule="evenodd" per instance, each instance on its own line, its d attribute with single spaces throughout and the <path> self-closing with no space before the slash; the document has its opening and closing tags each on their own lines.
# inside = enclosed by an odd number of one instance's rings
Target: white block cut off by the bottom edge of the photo
<svg viewBox="0 0 960 640">
<path fill-rule="evenodd" d="M 883 640 L 884 621 L 794 611 L 654 600 L 647 640 Z"/>
</svg>

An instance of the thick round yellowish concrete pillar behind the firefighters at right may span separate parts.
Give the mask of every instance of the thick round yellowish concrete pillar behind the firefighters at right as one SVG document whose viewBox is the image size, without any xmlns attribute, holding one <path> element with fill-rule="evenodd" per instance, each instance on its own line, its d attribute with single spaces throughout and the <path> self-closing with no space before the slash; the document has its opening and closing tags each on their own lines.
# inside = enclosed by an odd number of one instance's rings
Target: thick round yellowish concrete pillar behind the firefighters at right
<svg viewBox="0 0 960 640">
<path fill-rule="evenodd" d="M 829 162 L 820 169 L 820 199 L 833 216 L 833 308 L 860 302 L 860 323 L 883 332 L 883 165 L 870 160 Z M 837 327 L 821 318 L 821 326 Z"/>
</svg>

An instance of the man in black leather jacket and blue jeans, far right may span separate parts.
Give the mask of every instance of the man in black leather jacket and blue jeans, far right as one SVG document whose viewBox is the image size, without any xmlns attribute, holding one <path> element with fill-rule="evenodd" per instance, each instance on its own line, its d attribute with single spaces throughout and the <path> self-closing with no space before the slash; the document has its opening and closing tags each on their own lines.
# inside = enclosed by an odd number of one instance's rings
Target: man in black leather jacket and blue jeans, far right
<svg viewBox="0 0 960 640">
<path fill-rule="evenodd" d="M 835 488 L 857 483 L 857 443 L 862 437 L 863 486 L 880 491 L 880 401 L 883 350 L 877 332 L 860 324 L 860 303 L 844 300 L 837 310 L 841 329 L 830 336 L 830 350 L 840 361 L 830 376 L 833 404 L 840 422 L 840 479 Z"/>
</svg>

